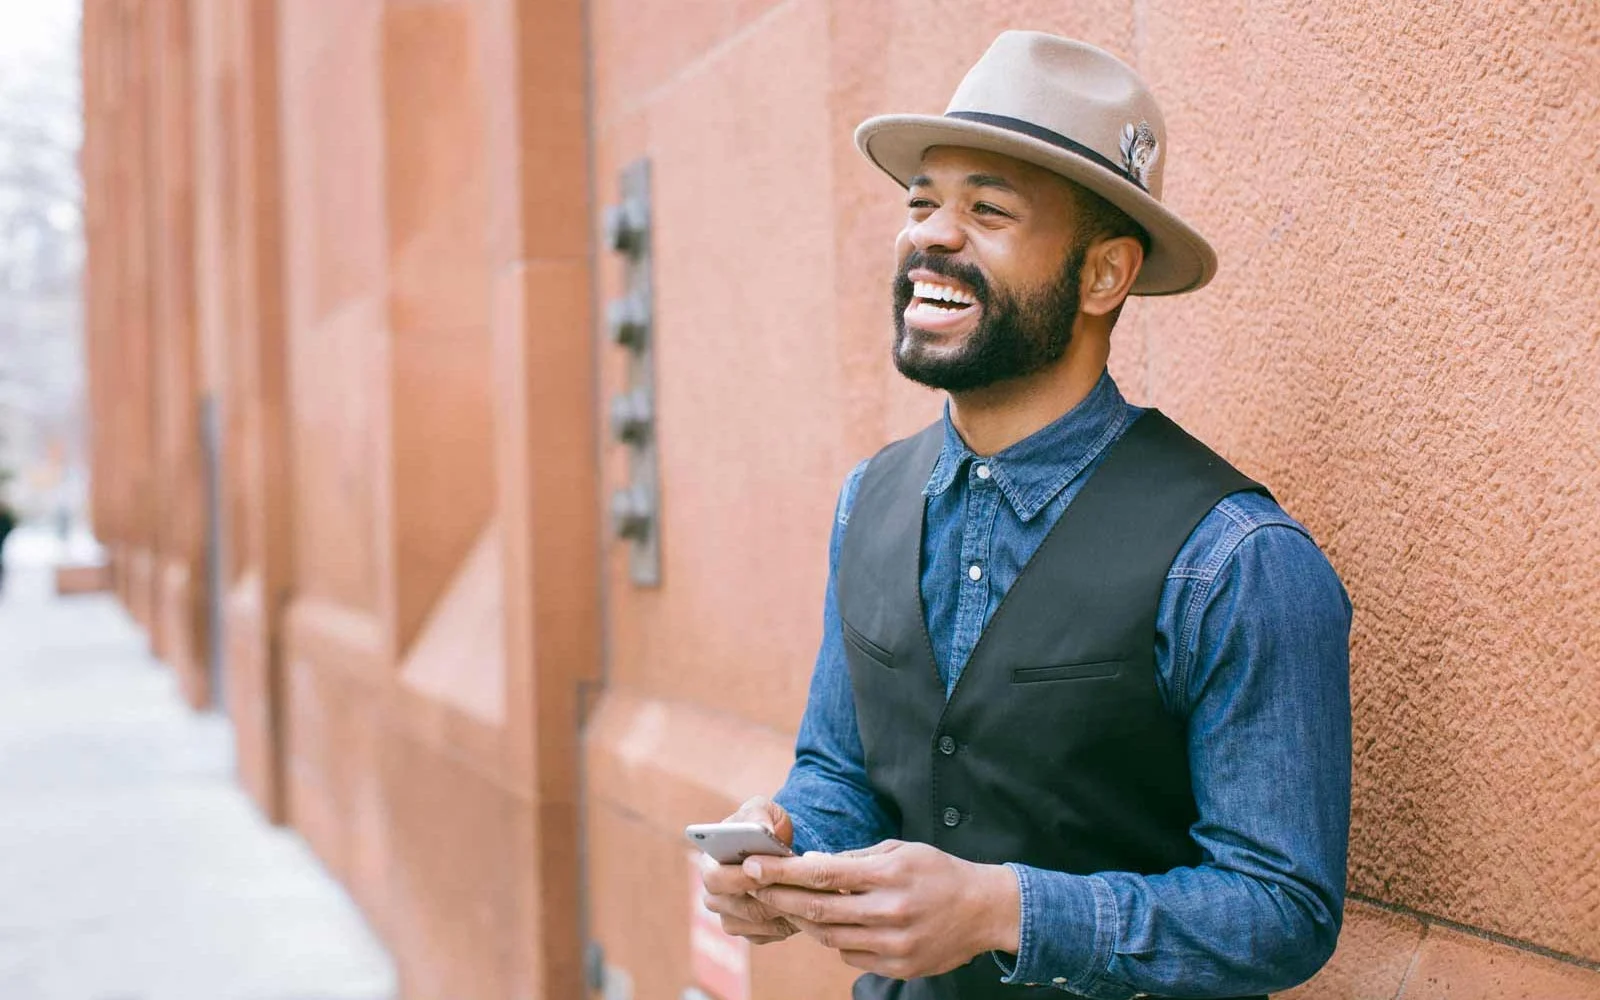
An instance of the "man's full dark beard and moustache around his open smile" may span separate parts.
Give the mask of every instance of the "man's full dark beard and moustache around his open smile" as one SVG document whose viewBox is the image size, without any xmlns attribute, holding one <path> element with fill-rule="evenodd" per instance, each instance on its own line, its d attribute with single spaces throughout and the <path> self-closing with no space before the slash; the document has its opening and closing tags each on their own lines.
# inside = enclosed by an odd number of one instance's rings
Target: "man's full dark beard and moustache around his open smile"
<svg viewBox="0 0 1600 1000">
<path fill-rule="evenodd" d="M 1053 283 L 1016 293 L 994 288 L 974 264 L 912 251 L 894 275 L 894 368 L 931 389 L 971 392 L 1054 365 L 1072 342 L 1085 253 L 1086 246 L 1074 246 Z M 918 267 L 960 282 L 982 309 L 978 328 L 950 354 L 936 352 L 928 334 L 906 326 L 914 298 L 907 275 Z"/>
</svg>

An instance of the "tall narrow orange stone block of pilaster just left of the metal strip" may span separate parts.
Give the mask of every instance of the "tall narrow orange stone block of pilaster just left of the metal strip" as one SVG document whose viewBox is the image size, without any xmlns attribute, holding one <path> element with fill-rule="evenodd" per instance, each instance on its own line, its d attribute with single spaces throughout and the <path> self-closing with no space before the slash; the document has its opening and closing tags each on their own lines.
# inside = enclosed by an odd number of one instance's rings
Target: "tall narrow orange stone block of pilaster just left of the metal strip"
<svg viewBox="0 0 1600 1000">
<path fill-rule="evenodd" d="M 576 800 L 576 686 L 600 670 L 589 274 L 584 259 L 512 264 L 494 294 L 504 698 L 528 709 L 507 715 L 506 766 L 515 787 L 538 784 L 546 805 Z"/>
</svg>

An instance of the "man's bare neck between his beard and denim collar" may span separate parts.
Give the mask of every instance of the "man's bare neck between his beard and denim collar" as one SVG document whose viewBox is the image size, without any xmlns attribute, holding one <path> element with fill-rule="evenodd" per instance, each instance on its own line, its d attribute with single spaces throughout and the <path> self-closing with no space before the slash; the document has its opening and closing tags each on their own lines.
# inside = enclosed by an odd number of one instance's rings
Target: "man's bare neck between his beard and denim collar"
<svg viewBox="0 0 1600 1000">
<path fill-rule="evenodd" d="M 950 422 L 966 446 L 994 454 L 1048 427 L 1083 402 L 1106 371 L 1110 338 L 1072 333 L 1061 360 L 1018 379 L 950 394 Z"/>
</svg>

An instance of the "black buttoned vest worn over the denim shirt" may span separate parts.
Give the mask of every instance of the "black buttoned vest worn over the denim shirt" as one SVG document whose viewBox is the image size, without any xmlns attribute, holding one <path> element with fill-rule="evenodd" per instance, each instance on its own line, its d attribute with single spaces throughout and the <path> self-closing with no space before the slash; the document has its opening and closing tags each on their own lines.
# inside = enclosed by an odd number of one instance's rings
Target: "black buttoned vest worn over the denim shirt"
<svg viewBox="0 0 1600 1000">
<path fill-rule="evenodd" d="M 838 560 L 838 610 L 872 787 L 904 840 L 1061 872 L 1158 874 L 1200 861 L 1184 728 L 1155 682 L 1166 571 L 1213 506 L 1264 490 L 1150 410 L 1110 446 L 1006 592 L 955 690 L 928 640 L 923 486 L 942 424 L 880 451 Z M 1000 986 L 984 954 L 856 997 L 1050 997 Z"/>
</svg>

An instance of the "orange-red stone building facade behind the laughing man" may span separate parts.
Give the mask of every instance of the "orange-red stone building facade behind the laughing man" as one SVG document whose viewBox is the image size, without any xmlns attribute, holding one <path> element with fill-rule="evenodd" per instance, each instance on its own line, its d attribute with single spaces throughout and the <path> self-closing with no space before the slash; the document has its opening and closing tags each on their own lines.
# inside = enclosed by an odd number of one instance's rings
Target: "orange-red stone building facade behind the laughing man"
<svg viewBox="0 0 1600 1000">
<path fill-rule="evenodd" d="M 1082 37 L 1163 99 L 1222 261 L 1130 306 L 1112 371 L 1355 603 L 1354 899 L 1291 995 L 1597 998 L 1597 10 L 86 0 L 118 592 L 408 1000 L 584 995 L 586 946 L 680 997 L 680 830 L 779 784 L 838 483 L 938 413 L 888 363 L 902 208 L 850 133 L 942 109 L 1002 29 Z M 640 158 L 653 371 L 608 338 Z M 645 378 L 648 462 L 611 421 Z M 640 584 L 613 494 L 650 469 Z"/>
</svg>

